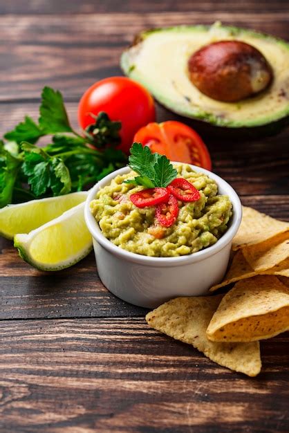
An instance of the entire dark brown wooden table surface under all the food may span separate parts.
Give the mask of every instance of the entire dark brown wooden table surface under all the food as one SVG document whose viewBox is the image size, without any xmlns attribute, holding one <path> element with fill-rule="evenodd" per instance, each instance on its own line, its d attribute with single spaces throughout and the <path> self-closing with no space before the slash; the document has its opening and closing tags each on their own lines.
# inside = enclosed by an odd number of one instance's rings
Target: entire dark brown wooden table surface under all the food
<svg viewBox="0 0 289 433">
<path fill-rule="evenodd" d="M 37 116 L 44 85 L 77 102 L 120 74 L 120 54 L 153 26 L 225 24 L 289 38 L 289 2 L 9 0 L 0 2 L 0 127 Z M 160 114 L 160 117 L 162 114 Z M 214 172 L 244 205 L 289 219 L 289 131 L 207 140 Z M 288 333 L 261 342 L 248 378 L 149 329 L 145 309 L 111 295 L 93 254 L 41 273 L 1 239 L 1 432 L 288 432 Z"/>
</svg>

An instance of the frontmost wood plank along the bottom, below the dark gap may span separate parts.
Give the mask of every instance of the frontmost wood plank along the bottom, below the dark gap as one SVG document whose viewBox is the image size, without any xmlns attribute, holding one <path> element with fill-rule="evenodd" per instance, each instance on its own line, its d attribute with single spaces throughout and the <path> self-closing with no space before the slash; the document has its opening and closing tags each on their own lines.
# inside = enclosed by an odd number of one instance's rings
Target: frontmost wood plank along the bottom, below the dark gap
<svg viewBox="0 0 289 433">
<path fill-rule="evenodd" d="M 261 342 L 257 378 L 138 318 L 1 322 L 0 336 L 1 432 L 288 432 L 286 334 Z"/>
</svg>

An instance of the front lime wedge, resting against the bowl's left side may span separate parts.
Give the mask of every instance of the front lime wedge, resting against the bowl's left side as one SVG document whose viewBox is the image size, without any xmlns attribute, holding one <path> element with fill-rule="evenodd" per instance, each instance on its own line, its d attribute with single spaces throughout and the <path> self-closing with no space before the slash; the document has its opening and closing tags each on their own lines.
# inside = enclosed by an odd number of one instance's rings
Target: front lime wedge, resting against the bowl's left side
<svg viewBox="0 0 289 433">
<path fill-rule="evenodd" d="M 14 246 L 22 259 L 40 270 L 60 270 L 77 263 L 92 248 L 84 203 L 28 234 L 16 234 Z"/>
</svg>

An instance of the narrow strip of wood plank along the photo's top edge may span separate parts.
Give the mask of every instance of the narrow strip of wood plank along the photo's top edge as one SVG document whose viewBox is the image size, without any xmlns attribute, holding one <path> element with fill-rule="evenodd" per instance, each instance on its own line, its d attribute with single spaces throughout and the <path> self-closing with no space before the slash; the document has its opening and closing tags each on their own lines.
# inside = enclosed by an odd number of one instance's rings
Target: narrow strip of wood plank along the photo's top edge
<svg viewBox="0 0 289 433">
<path fill-rule="evenodd" d="M 256 12 L 260 15 L 263 13 L 277 12 L 279 10 L 289 10 L 288 1 L 277 0 L 268 2 L 267 0 L 245 0 L 242 2 L 231 1 L 225 3 L 223 1 L 214 1 L 214 11 L 218 12 Z M 135 0 L 70 0 L 70 1 L 57 1 L 57 0 L 10 0 L 0 3 L 1 14 L 91 14 L 91 13 L 113 13 L 113 12 L 192 12 L 192 10 L 199 10 L 207 12 L 212 10 L 212 1 L 192 1 L 192 0 L 147 0 L 145 2 Z"/>
</svg>

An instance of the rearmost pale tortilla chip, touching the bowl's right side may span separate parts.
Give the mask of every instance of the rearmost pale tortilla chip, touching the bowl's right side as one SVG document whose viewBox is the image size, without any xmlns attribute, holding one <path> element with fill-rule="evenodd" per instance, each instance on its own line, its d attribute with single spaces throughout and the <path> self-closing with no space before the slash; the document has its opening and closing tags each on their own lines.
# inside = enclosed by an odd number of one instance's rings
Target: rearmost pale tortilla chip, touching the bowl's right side
<svg viewBox="0 0 289 433">
<path fill-rule="evenodd" d="M 240 228 L 233 239 L 232 248 L 238 250 L 244 246 L 256 245 L 287 232 L 289 223 L 261 214 L 257 210 L 243 206 L 243 218 Z"/>
</svg>

